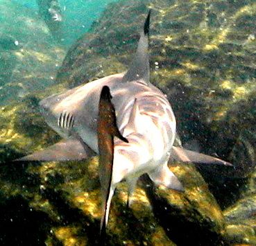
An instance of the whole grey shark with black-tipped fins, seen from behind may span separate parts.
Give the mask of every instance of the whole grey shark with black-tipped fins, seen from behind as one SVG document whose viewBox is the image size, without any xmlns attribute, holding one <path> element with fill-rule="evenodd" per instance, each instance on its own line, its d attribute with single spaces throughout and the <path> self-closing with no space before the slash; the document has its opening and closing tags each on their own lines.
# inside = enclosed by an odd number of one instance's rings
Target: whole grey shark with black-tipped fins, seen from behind
<svg viewBox="0 0 256 246">
<path fill-rule="evenodd" d="M 42 114 L 63 138 L 19 161 L 69 161 L 99 155 L 103 197 L 101 235 L 119 182 L 128 182 L 128 205 L 137 179 L 147 173 L 157 185 L 184 188 L 169 161 L 230 165 L 221 159 L 173 146 L 176 118 L 160 89 L 149 81 L 148 12 L 133 62 L 126 73 L 94 80 L 40 102 Z"/>
</svg>

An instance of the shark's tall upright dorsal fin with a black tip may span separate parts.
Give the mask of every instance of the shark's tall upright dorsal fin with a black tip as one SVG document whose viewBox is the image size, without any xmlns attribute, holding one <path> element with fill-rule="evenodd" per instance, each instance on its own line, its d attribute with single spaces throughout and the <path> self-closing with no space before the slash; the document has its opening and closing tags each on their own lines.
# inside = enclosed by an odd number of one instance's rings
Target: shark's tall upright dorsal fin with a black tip
<svg viewBox="0 0 256 246">
<path fill-rule="evenodd" d="M 135 58 L 133 58 L 128 71 L 123 76 L 123 82 L 140 80 L 146 85 L 149 83 L 148 37 L 150 17 L 151 10 L 149 10 L 148 16 L 146 17 L 144 30 L 139 38 Z"/>
</svg>

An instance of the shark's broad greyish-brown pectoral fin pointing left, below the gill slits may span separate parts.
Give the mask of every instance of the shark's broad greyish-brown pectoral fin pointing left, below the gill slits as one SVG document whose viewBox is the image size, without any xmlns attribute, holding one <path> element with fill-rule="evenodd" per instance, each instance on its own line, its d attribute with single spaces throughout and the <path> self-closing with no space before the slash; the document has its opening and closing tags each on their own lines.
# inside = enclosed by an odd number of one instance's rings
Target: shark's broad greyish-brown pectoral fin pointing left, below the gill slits
<svg viewBox="0 0 256 246">
<path fill-rule="evenodd" d="M 15 161 L 79 161 L 96 155 L 83 141 L 76 138 L 62 141 Z"/>
</svg>

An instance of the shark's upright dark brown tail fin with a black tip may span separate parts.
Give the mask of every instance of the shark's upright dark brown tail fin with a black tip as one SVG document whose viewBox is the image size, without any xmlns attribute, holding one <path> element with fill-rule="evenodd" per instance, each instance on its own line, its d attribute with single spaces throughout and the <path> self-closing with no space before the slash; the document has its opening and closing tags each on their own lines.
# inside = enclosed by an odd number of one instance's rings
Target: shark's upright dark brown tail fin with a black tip
<svg viewBox="0 0 256 246">
<path fill-rule="evenodd" d="M 112 168 L 114 160 L 114 137 L 128 143 L 117 128 L 117 118 L 114 106 L 111 103 L 110 88 L 104 86 L 101 90 L 99 100 L 99 118 L 97 134 L 99 142 L 99 178 L 101 181 L 102 193 L 102 214 L 101 214 L 101 244 L 105 241 L 105 227 L 108 223 L 110 202 L 114 194 L 112 187 Z"/>
</svg>

